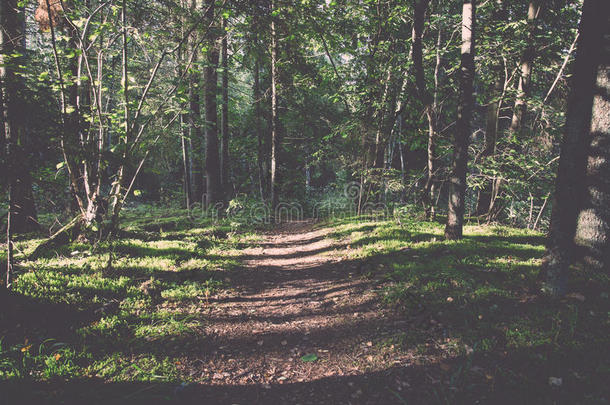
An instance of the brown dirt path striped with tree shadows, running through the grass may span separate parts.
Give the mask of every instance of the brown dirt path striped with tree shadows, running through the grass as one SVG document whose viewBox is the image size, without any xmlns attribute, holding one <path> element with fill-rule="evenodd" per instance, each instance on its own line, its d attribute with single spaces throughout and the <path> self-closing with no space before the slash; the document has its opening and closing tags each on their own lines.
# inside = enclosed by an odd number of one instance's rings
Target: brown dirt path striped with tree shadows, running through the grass
<svg viewBox="0 0 610 405">
<path fill-rule="evenodd" d="M 410 385 L 393 371 L 412 359 L 390 340 L 406 321 L 329 232 L 286 225 L 241 251 L 236 291 L 210 299 L 209 351 L 189 361 L 219 402 L 378 403 Z"/>
</svg>

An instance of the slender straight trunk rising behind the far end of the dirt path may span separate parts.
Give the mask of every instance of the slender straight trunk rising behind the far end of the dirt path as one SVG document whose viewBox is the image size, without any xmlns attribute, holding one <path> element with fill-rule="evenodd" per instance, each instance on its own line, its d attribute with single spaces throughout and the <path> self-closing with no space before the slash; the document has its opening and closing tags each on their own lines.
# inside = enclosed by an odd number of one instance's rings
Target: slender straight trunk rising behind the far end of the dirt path
<svg viewBox="0 0 610 405">
<path fill-rule="evenodd" d="M 274 2 L 271 1 L 271 10 L 274 10 Z M 277 32 L 275 20 L 271 20 L 271 209 L 275 209 L 279 203 L 278 190 L 278 160 L 280 148 L 279 116 L 277 106 Z"/>
</svg>

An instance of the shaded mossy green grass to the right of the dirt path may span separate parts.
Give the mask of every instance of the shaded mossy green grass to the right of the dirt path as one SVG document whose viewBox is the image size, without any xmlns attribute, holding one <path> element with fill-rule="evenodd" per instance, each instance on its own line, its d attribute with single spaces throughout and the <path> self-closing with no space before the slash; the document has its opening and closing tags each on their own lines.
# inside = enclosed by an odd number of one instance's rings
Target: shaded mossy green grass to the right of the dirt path
<svg viewBox="0 0 610 405">
<path fill-rule="evenodd" d="M 346 259 L 385 282 L 386 306 L 424 319 L 386 343 L 451 363 L 438 402 L 476 401 L 500 387 L 517 402 L 608 401 L 608 273 L 575 267 L 572 293 L 551 301 L 539 294 L 544 235 L 470 225 L 464 239 L 445 241 L 440 223 L 400 222 L 325 226 L 347 243 Z"/>
</svg>

